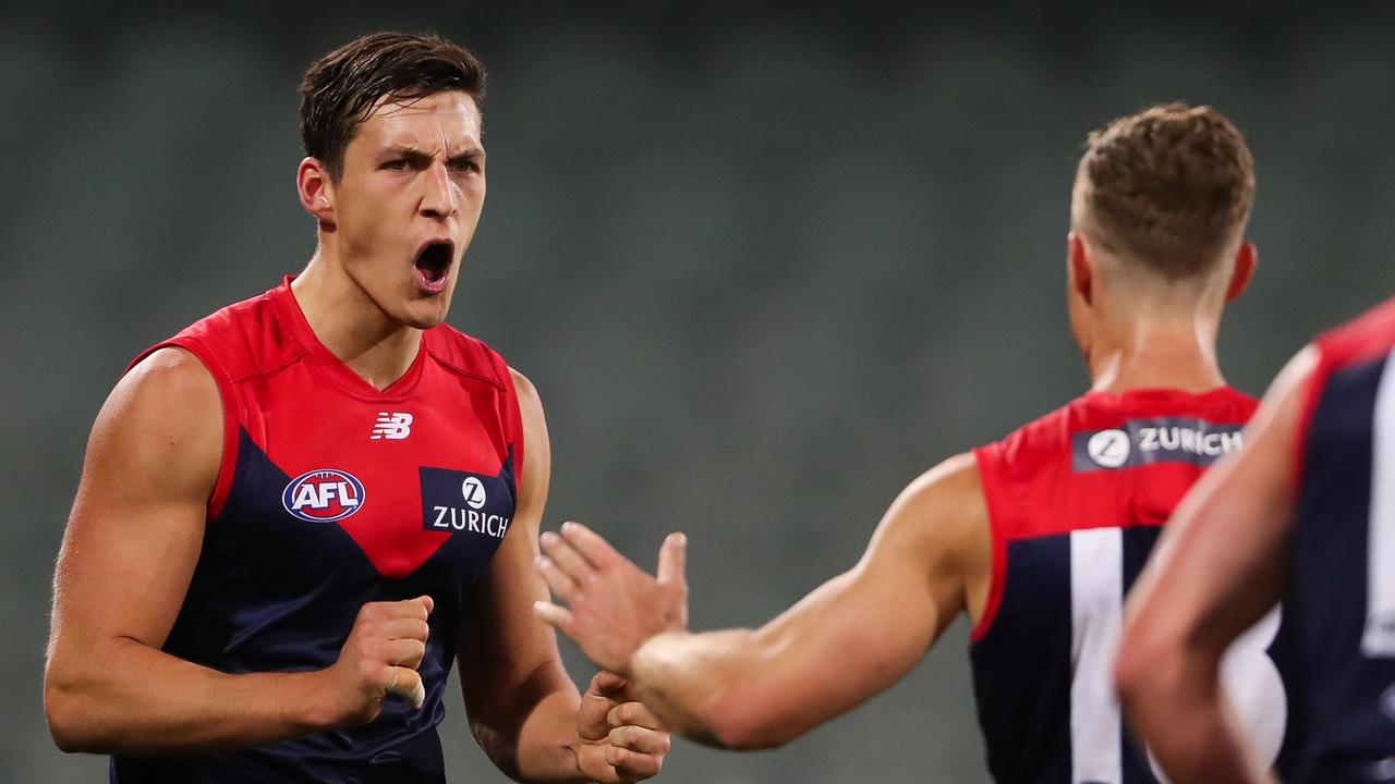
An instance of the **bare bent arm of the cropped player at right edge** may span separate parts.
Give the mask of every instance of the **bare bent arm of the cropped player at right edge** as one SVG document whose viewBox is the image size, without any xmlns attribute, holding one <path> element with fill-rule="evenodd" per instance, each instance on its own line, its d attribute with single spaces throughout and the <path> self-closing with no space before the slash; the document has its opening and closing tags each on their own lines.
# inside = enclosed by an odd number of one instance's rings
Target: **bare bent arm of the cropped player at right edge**
<svg viewBox="0 0 1395 784">
<path fill-rule="evenodd" d="M 1179 784 L 1271 780 L 1222 698 L 1219 664 L 1282 591 L 1299 409 L 1315 360 L 1307 349 L 1279 374 L 1244 451 L 1179 505 L 1126 607 L 1120 702 Z"/>
</svg>

